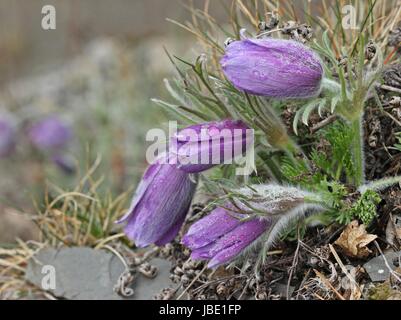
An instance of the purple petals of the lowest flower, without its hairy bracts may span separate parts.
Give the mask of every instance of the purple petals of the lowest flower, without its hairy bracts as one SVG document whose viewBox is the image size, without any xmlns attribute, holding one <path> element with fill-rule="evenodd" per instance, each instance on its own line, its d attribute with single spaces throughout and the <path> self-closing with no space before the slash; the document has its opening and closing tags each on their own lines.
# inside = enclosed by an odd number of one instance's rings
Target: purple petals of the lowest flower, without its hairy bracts
<svg viewBox="0 0 401 320">
<path fill-rule="evenodd" d="M 240 218 L 239 214 L 216 208 L 194 223 L 182 240 L 182 243 L 192 250 L 191 258 L 210 260 L 209 268 L 230 262 L 252 245 L 271 225 L 267 218 L 248 221 L 241 221 Z"/>
</svg>

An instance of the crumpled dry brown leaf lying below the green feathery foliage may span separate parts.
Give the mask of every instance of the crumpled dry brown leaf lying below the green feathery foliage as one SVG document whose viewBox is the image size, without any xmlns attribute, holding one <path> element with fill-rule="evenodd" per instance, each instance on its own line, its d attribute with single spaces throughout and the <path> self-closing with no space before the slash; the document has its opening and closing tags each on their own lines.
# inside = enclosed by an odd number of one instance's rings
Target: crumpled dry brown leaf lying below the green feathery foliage
<svg viewBox="0 0 401 320">
<path fill-rule="evenodd" d="M 364 258 L 371 253 L 367 245 L 376 238 L 376 235 L 366 232 L 365 225 L 359 225 L 358 221 L 354 220 L 347 225 L 334 244 L 349 257 Z"/>
</svg>

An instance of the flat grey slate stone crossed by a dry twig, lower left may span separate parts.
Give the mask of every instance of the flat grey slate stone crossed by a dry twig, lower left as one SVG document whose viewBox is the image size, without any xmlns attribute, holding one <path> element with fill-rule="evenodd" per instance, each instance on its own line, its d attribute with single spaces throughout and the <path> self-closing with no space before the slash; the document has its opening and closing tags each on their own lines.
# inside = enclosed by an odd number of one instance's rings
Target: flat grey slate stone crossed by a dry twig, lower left
<svg viewBox="0 0 401 320">
<path fill-rule="evenodd" d="M 54 296 L 72 300 L 152 299 L 160 290 L 172 286 L 169 280 L 170 263 L 153 259 L 158 269 L 154 279 L 142 275 L 134 280 L 134 294 L 122 297 L 114 292 L 123 263 L 108 251 L 85 247 L 46 248 L 29 261 L 26 279 Z M 49 275 L 54 271 L 54 284 Z"/>
</svg>

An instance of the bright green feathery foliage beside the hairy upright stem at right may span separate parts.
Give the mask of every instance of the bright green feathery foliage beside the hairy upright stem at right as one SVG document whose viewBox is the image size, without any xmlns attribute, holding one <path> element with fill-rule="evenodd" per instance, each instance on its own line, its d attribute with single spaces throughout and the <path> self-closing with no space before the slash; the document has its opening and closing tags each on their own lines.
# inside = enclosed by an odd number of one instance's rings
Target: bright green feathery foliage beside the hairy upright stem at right
<svg viewBox="0 0 401 320">
<path fill-rule="evenodd" d="M 350 153 L 352 131 L 346 124 L 337 122 L 323 132 L 322 138 L 328 142 L 328 146 L 324 152 L 312 150 L 310 160 L 314 170 L 309 170 L 304 162 L 286 158 L 281 167 L 285 178 L 293 184 L 318 192 L 327 208 L 325 215 L 328 221 L 348 224 L 358 218 L 369 225 L 376 216 L 380 196 L 368 189 L 351 204 L 347 200 L 350 190 L 343 184 L 352 181 L 354 175 Z"/>
</svg>

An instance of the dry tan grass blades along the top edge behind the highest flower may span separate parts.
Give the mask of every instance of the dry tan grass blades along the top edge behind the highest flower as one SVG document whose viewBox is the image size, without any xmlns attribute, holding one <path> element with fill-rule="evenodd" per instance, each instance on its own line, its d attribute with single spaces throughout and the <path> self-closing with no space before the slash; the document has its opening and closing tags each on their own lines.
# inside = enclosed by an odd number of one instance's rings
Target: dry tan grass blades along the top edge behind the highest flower
<svg viewBox="0 0 401 320">
<path fill-rule="evenodd" d="M 227 2 L 222 2 L 226 5 Z M 355 30 L 345 30 L 342 24 L 342 8 L 353 5 L 357 15 Z M 241 28 L 256 33 L 258 24 L 268 20 L 269 14 L 278 13 L 282 22 L 296 21 L 313 26 L 317 39 L 321 39 L 324 31 L 329 37 L 335 52 L 340 55 L 345 49 L 354 50 L 360 32 L 368 34 L 369 39 L 378 43 L 388 57 L 393 57 L 393 51 L 386 47 L 389 31 L 396 28 L 401 21 L 401 0 L 237 0 L 226 7 L 229 25 L 221 26 L 209 12 L 210 0 L 206 0 L 202 9 L 192 5 L 187 6 L 192 14 L 191 21 L 171 22 L 192 33 L 198 39 L 202 48 L 212 57 L 215 70 L 218 70 L 218 58 L 224 52 L 224 37 L 239 38 Z"/>
</svg>

